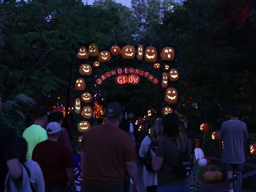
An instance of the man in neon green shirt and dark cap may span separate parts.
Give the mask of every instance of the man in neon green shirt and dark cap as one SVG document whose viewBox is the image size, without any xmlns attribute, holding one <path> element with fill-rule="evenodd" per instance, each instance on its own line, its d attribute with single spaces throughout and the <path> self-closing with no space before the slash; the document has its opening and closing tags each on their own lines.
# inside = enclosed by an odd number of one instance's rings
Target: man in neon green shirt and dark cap
<svg viewBox="0 0 256 192">
<path fill-rule="evenodd" d="M 34 150 L 34 147 L 36 144 L 46 140 L 47 133 L 46 130 L 43 128 L 48 120 L 48 114 L 46 108 L 43 106 L 40 106 L 36 108 L 35 110 L 35 120 L 34 124 L 26 128 L 26 130 L 23 132 L 23 137 L 28 142 L 28 159 L 31 160 L 32 158 L 32 152 Z"/>
</svg>

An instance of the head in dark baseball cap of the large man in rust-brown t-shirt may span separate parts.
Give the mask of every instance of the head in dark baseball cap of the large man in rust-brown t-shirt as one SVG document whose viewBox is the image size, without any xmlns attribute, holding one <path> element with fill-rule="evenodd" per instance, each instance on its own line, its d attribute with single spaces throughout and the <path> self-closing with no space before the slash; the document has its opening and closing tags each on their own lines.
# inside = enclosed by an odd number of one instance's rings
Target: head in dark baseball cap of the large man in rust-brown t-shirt
<svg viewBox="0 0 256 192">
<path fill-rule="evenodd" d="M 118 102 L 111 102 L 106 106 L 106 121 L 121 122 L 122 106 Z"/>
</svg>

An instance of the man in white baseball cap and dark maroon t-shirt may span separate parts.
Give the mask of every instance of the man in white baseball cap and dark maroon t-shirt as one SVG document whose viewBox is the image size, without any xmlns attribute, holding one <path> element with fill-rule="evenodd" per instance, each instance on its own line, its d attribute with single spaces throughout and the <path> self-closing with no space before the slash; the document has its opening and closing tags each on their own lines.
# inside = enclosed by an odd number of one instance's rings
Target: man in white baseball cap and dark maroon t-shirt
<svg viewBox="0 0 256 192">
<path fill-rule="evenodd" d="M 32 153 L 32 160 L 38 162 L 42 169 L 46 192 L 74 192 L 72 154 L 58 142 L 60 131 L 58 122 L 50 122 L 46 127 L 48 139 L 37 144 Z"/>
</svg>

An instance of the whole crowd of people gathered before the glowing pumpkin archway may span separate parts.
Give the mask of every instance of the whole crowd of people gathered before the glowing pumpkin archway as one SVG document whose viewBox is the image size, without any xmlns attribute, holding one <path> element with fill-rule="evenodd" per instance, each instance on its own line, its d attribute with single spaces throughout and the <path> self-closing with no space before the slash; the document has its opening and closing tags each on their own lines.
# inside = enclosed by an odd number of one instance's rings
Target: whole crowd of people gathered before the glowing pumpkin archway
<svg viewBox="0 0 256 192">
<path fill-rule="evenodd" d="M 2 104 L 1 97 L 0 101 Z M 222 166 L 228 177 L 233 170 L 242 171 L 243 142 L 248 138 L 246 126 L 238 120 L 239 111 L 235 109 L 230 109 L 231 120 L 222 125 L 220 134 L 225 141 L 224 149 L 228 150 L 223 150 L 226 154 L 222 155 Z M 104 124 L 92 126 L 84 133 L 75 154 L 68 132 L 62 127 L 62 112 L 52 112 L 51 122 L 47 123 L 49 113 L 46 108 L 38 107 L 34 124 L 26 128 L 22 136 L 1 124 L 0 191 L 8 192 L 4 186 L 7 172 L 14 180 L 20 180 L 25 166 L 30 177 L 27 187 L 35 192 L 128 192 L 130 181 L 132 190 L 139 192 L 137 159 L 138 156 L 143 159 L 150 148 L 152 171 L 144 166 L 142 178 L 146 191 L 188 192 L 189 176 L 178 176 L 174 170 L 180 154 L 191 156 L 194 150 L 185 133 L 184 120 L 176 113 L 157 118 L 137 154 L 134 113 L 129 112 L 126 120 L 123 112 L 124 106 L 118 102 L 109 103 Z M 229 137 L 234 130 L 236 134 L 233 132 Z M 238 154 L 234 149 L 235 141 L 242 151 Z"/>
</svg>

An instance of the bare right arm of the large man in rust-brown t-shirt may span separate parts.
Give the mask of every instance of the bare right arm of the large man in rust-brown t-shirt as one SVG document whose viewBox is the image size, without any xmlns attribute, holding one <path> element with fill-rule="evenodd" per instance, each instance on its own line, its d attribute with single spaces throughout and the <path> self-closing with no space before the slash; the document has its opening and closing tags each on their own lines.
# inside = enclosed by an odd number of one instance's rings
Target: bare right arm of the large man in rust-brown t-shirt
<svg viewBox="0 0 256 192">
<path fill-rule="evenodd" d="M 134 183 L 134 192 L 139 192 L 139 178 L 138 178 L 138 169 L 136 161 L 126 161 L 125 166 L 127 169 L 128 174 L 132 178 L 132 181 Z"/>
</svg>

